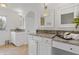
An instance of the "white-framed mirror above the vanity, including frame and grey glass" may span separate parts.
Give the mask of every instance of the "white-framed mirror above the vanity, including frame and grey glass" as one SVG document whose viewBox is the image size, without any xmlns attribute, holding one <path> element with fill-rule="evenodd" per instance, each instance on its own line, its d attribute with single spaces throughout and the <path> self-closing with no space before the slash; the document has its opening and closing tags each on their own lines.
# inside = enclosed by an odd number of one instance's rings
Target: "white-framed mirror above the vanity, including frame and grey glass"
<svg viewBox="0 0 79 59">
<path fill-rule="evenodd" d="M 57 27 L 74 27 L 72 23 L 74 17 L 76 16 L 76 10 L 74 6 L 63 7 L 57 10 Z"/>
</svg>

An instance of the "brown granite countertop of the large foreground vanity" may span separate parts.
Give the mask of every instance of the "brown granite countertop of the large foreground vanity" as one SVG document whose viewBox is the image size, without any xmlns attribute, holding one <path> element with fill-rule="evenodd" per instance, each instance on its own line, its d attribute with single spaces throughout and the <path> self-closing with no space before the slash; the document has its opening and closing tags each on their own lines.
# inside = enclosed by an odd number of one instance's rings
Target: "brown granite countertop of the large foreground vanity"
<svg viewBox="0 0 79 59">
<path fill-rule="evenodd" d="M 30 34 L 30 35 L 50 38 L 53 41 L 58 41 L 58 42 L 62 42 L 62 43 L 67 43 L 67 44 L 72 44 L 72 45 L 79 46 L 79 40 L 66 40 L 66 39 L 62 39 L 62 38 L 56 36 L 56 34 Z"/>
</svg>

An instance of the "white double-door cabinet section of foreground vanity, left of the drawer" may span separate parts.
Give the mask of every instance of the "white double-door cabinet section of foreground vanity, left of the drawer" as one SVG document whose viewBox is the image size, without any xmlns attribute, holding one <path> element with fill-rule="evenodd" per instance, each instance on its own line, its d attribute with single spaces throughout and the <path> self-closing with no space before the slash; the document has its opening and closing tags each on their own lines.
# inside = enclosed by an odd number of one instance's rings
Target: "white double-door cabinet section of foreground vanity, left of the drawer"
<svg viewBox="0 0 79 59">
<path fill-rule="evenodd" d="M 51 55 L 51 39 L 28 35 L 28 54 L 30 55 Z"/>
</svg>

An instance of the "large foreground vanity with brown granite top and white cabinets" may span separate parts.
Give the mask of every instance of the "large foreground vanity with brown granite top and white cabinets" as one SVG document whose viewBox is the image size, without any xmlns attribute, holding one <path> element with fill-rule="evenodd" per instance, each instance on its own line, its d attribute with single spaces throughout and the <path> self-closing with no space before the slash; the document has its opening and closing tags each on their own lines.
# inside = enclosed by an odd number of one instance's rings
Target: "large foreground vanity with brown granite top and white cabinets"
<svg viewBox="0 0 79 59">
<path fill-rule="evenodd" d="M 56 34 L 28 34 L 28 45 L 30 55 L 79 54 L 79 40 L 66 40 Z"/>
</svg>

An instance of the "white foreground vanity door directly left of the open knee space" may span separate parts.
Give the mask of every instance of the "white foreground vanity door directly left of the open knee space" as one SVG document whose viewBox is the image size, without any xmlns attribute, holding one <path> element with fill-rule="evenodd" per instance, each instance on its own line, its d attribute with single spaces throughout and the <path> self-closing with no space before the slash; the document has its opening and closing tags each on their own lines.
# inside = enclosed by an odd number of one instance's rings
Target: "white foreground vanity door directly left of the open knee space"
<svg viewBox="0 0 79 59">
<path fill-rule="evenodd" d="M 38 55 L 51 55 L 51 41 L 47 38 L 41 38 L 38 42 Z"/>
</svg>

